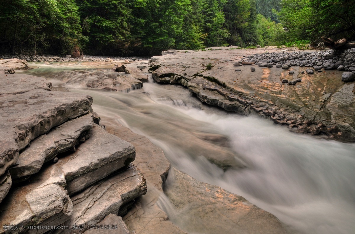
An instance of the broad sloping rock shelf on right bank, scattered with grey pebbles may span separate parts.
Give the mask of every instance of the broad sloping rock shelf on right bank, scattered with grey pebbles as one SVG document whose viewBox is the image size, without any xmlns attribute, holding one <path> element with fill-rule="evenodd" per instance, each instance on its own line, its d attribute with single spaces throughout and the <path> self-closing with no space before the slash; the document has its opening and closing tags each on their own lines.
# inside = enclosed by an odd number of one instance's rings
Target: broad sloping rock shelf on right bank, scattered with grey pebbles
<svg viewBox="0 0 355 234">
<path fill-rule="evenodd" d="M 351 113 L 355 108 L 354 90 L 348 91 L 347 96 L 343 97 L 347 104 L 337 105 L 339 109 L 335 111 L 329 104 L 332 99 L 338 100 L 339 95 L 345 95 L 343 92 L 339 93 L 346 86 L 341 80 L 342 72 L 322 69 L 322 72 L 314 73 L 313 70 L 307 69 L 307 66 L 323 66 L 323 62 L 326 62 L 324 54 L 334 52 L 293 49 L 278 51 L 237 49 L 155 56 L 151 59 L 150 71 L 155 81 L 182 84 L 204 103 L 242 115 L 256 112 L 275 123 L 287 125 L 297 133 L 353 142 L 355 117 Z M 332 62 L 329 63 L 342 61 L 349 70 L 353 66 L 350 61 L 352 51 L 350 49 L 344 54 L 334 54 Z M 235 72 L 233 64 L 241 59 L 255 62 L 252 68 L 256 71 L 251 72 L 248 66 L 240 66 L 241 71 Z M 257 67 L 263 59 L 269 64 L 283 64 L 285 70 Z M 303 62 L 298 63 L 297 59 Z M 209 63 L 214 66 L 206 69 Z M 220 66 L 223 68 L 217 69 Z M 294 71 L 294 74 L 289 74 L 289 69 Z M 283 79 L 289 82 L 301 79 L 302 82 L 285 85 L 282 83 Z M 328 99 L 322 98 L 324 94 L 329 93 Z"/>
</svg>

